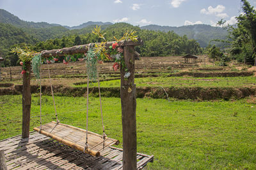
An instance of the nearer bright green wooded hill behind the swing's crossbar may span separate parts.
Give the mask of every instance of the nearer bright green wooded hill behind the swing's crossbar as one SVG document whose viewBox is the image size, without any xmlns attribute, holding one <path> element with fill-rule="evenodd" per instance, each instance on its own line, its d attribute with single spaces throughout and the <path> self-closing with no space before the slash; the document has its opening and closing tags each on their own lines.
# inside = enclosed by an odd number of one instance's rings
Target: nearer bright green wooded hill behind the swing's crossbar
<svg viewBox="0 0 256 170">
<path fill-rule="evenodd" d="M 195 39 L 188 39 L 186 36 L 179 36 L 173 31 L 147 31 L 131 24 L 118 23 L 109 25 L 109 27 L 104 29 L 103 33 L 106 33 L 105 38 L 107 41 L 115 41 L 113 36 L 121 38 L 127 30 L 136 31 L 138 36 L 143 39 L 144 45 L 136 46 L 136 50 L 141 53 L 142 56 L 153 57 L 182 55 L 186 53 L 202 53 L 202 49 Z M 61 39 L 49 39 L 47 41 L 37 43 L 34 50 L 51 50 L 52 48 L 63 48 L 97 41 L 98 39 L 92 33 L 76 36 L 63 36 Z"/>
</svg>

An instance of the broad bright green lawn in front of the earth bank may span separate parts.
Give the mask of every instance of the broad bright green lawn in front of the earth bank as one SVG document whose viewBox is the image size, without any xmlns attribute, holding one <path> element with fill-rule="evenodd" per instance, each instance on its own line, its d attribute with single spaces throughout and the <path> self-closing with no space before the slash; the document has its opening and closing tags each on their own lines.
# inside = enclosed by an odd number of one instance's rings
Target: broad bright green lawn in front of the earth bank
<svg viewBox="0 0 256 170">
<path fill-rule="evenodd" d="M 52 98 L 43 98 L 44 123 L 54 120 Z M 84 97 L 56 97 L 63 124 L 86 126 Z M 103 98 L 106 134 L 120 140 L 119 98 Z M 0 139 L 21 134 L 21 96 L 0 96 Z M 39 126 L 39 97 L 32 97 L 31 130 Z M 138 152 L 154 155 L 147 169 L 256 169 L 256 104 L 239 101 L 137 99 Z M 99 99 L 90 98 L 89 130 L 102 134 Z"/>
</svg>

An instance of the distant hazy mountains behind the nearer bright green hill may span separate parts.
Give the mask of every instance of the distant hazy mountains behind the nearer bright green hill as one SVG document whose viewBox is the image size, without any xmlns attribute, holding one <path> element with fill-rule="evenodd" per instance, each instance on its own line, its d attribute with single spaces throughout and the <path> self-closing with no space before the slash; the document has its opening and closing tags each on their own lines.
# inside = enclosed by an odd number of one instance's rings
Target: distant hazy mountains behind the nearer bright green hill
<svg viewBox="0 0 256 170">
<path fill-rule="evenodd" d="M 102 25 L 102 29 L 106 29 L 109 25 L 113 25 L 111 22 L 89 21 L 81 25 L 69 27 L 60 24 L 49 24 L 47 22 L 28 22 L 20 20 L 19 17 L 3 9 L 0 9 L 0 23 L 11 24 L 15 27 L 22 28 L 28 34 L 31 34 L 33 38 L 39 39 L 40 41 L 45 41 L 49 38 L 60 38 L 61 36 L 70 34 L 84 34 L 92 31 L 91 28 L 93 28 L 93 25 Z M 179 36 L 186 35 L 188 39 L 196 39 L 202 47 L 207 46 L 212 39 L 225 39 L 228 34 L 227 31 L 220 27 L 212 27 L 211 25 L 204 24 L 186 25 L 181 27 L 146 25 L 140 28 L 151 31 L 173 31 Z"/>
</svg>

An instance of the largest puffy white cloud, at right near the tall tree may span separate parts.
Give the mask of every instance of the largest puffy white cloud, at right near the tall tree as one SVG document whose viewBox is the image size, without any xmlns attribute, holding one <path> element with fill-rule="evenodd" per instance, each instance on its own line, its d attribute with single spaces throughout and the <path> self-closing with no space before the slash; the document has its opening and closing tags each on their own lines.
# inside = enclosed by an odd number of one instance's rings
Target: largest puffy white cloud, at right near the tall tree
<svg viewBox="0 0 256 170">
<path fill-rule="evenodd" d="M 220 18 L 227 18 L 228 17 L 227 13 L 222 13 L 224 10 L 225 10 L 225 6 L 223 6 L 222 4 L 219 4 L 216 6 L 216 8 L 213 8 L 212 6 L 209 6 L 207 10 L 203 8 L 202 10 L 200 10 L 200 13 L 204 13 L 206 15 L 215 15 L 216 17 L 220 17 Z"/>
</svg>

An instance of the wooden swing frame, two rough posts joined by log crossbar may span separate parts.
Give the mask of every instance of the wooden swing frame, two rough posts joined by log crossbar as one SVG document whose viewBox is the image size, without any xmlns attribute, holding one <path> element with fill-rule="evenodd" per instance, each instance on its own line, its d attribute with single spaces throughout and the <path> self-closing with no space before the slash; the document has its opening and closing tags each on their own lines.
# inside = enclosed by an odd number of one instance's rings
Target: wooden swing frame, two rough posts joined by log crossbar
<svg viewBox="0 0 256 170">
<path fill-rule="evenodd" d="M 109 48 L 114 43 L 105 43 L 105 48 Z M 123 168 L 136 169 L 137 164 L 137 144 L 136 144 L 136 85 L 134 84 L 134 46 L 143 45 L 143 41 L 119 41 L 119 46 L 124 46 L 125 66 L 128 69 L 130 76 L 124 78 L 125 69 L 120 69 L 120 97 L 122 105 L 122 133 L 123 133 Z M 93 46 L 93 43 L 88 45 L 72 46 L 70 48 L 62 48 L 58 50 L 45 50 L 41 53 L 41 57 L 56 57 L 64 55 L 72 55 L 75 53 L 85 53 L 88 46 Z M 27 74 L 23 74 L 23 89 L 22 89 L 22 138 L 29 137 L 29 123 L 31 111 L 31 64 L 25 62 Z M 54 136 L 52 136 L 54 137 Z M 57 138 L 56 138 L 57 139 Z M 63 139 L 60 139 L 63 141 Z M 68 145 L 68 142 L 67 144 Z M 76 146 L 76 145 L 72 145 Z"/>
</svg>

